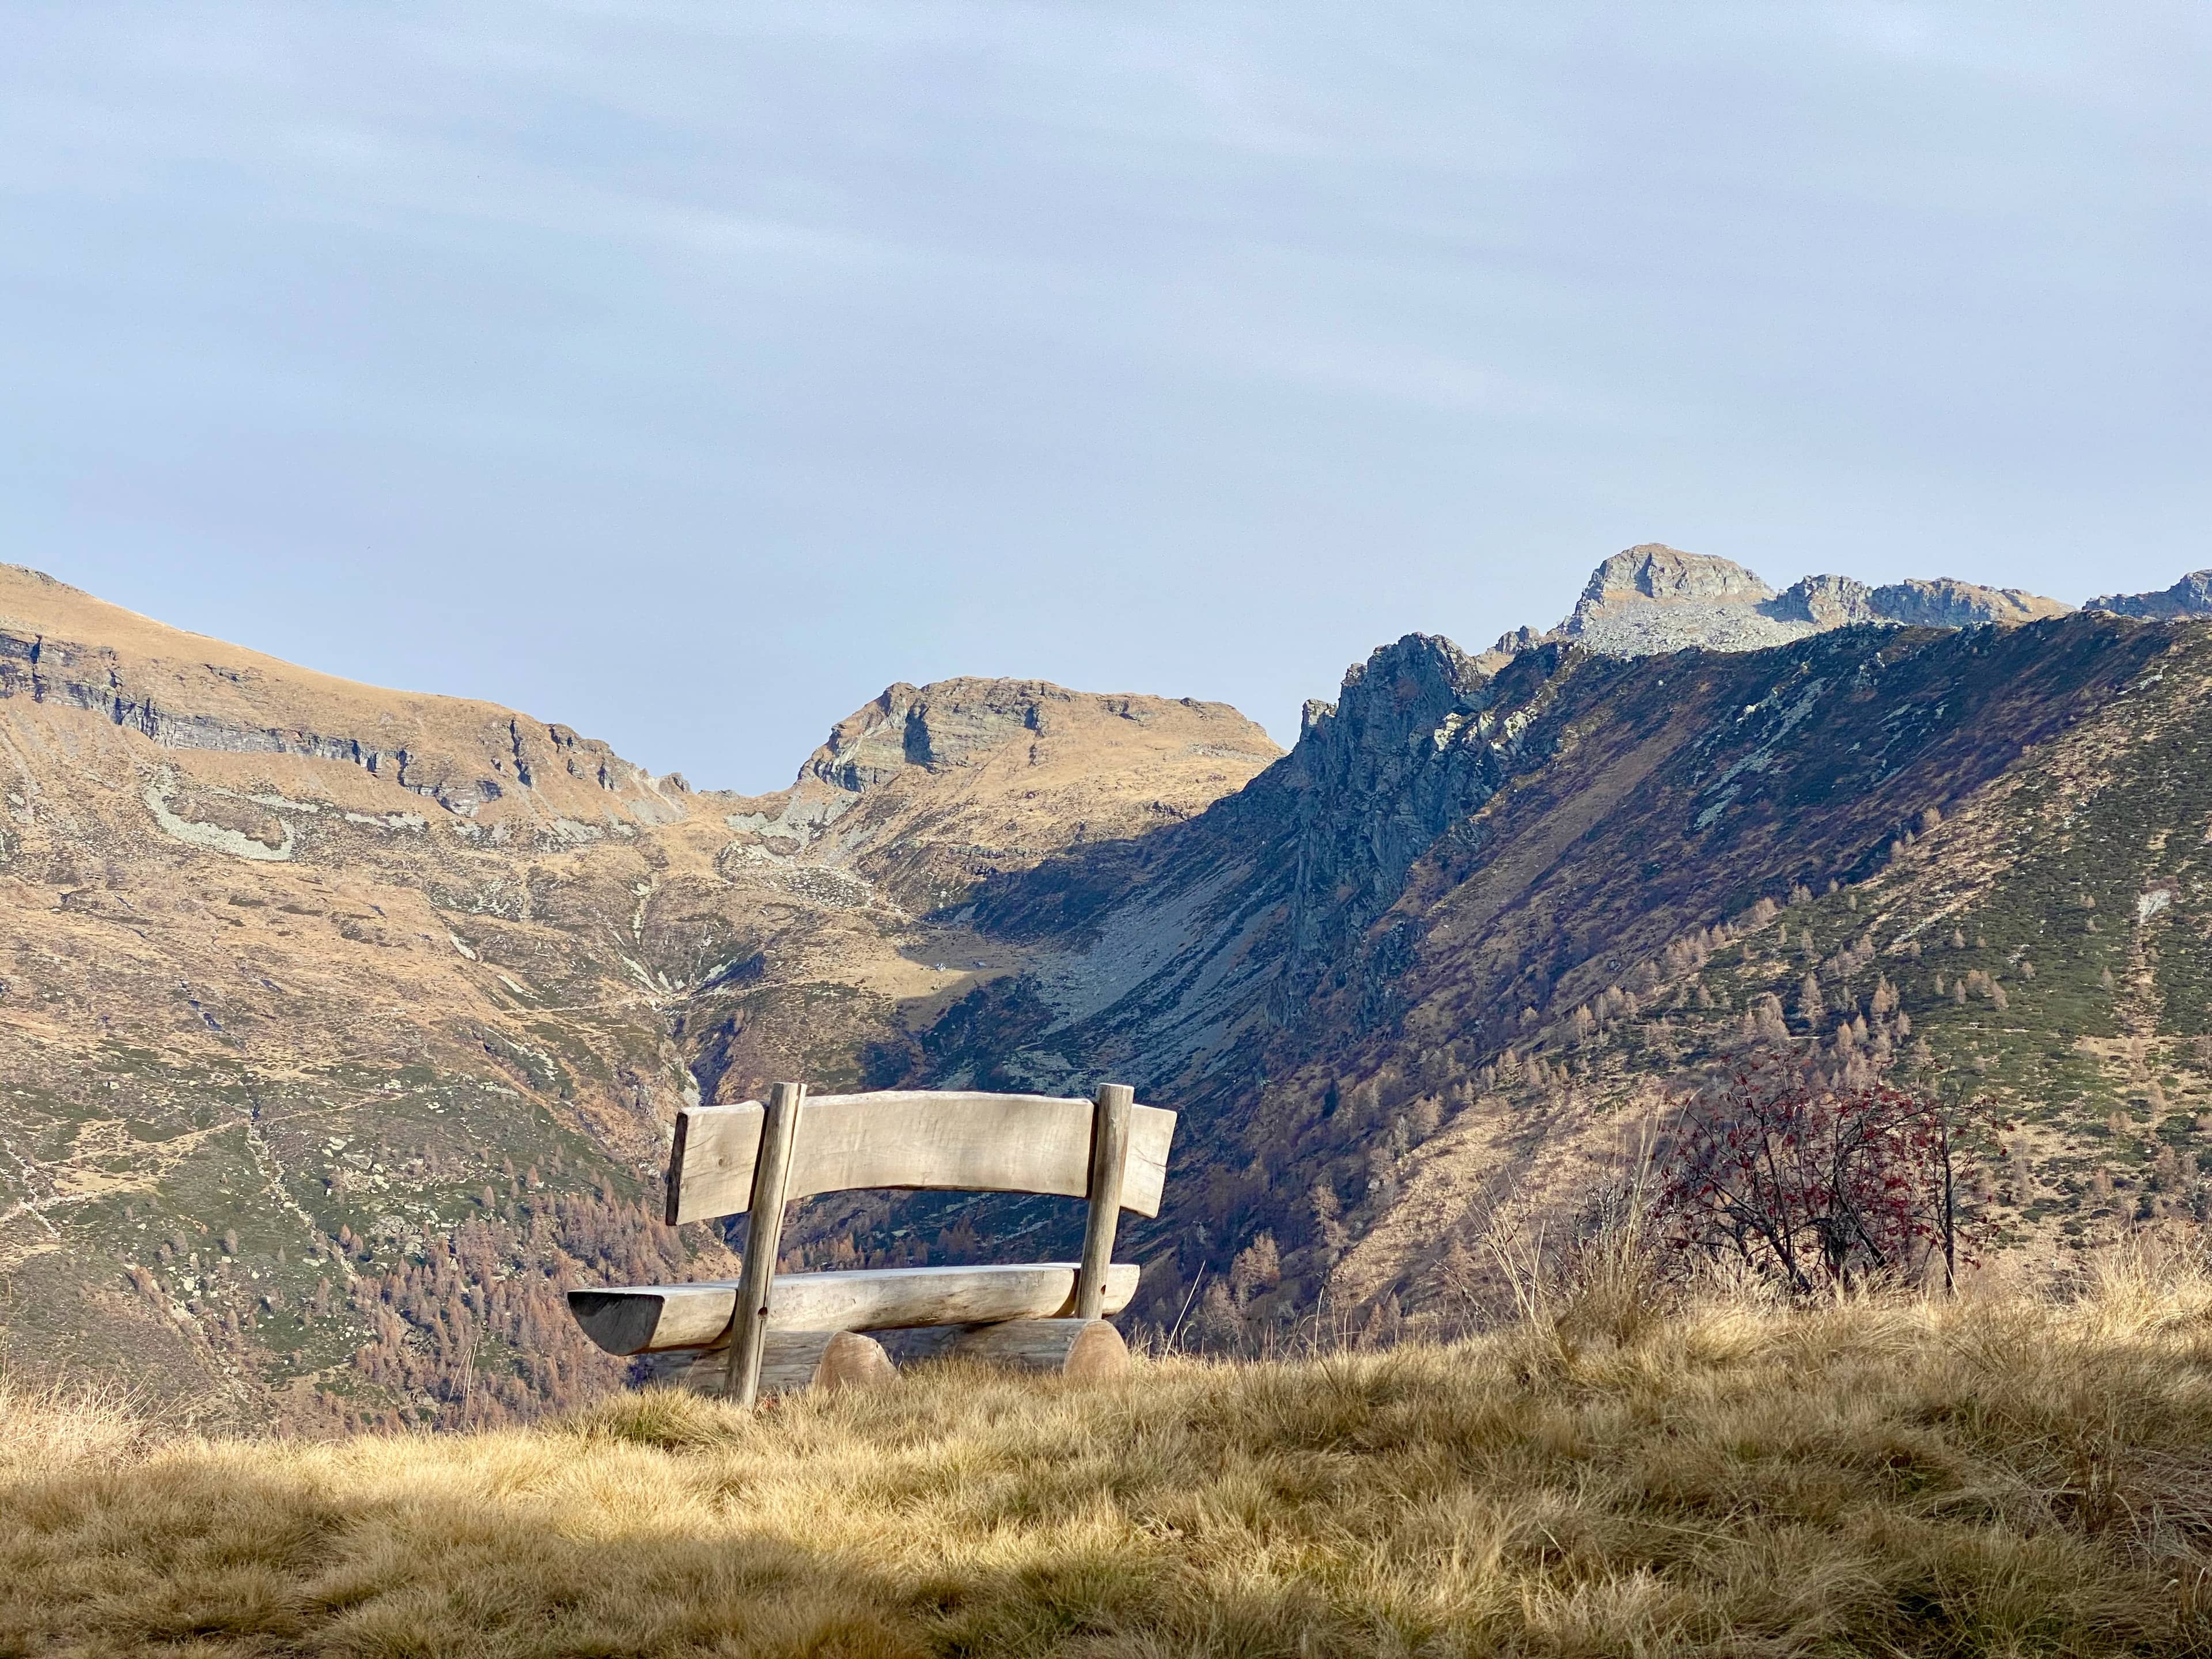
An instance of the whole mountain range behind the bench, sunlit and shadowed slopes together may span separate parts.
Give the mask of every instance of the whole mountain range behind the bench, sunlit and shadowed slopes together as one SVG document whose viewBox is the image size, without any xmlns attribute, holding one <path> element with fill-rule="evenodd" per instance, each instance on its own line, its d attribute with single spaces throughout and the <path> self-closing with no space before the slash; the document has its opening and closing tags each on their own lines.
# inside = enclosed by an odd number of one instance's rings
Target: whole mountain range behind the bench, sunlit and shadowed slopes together
<svg viewBox="0 0 2212 1659">
<path fill-rule="evenodd" d="M 1378 648 L 1290 754 L 956 679 L 734 796 L 0 568 L 0 1356 L 307 1431 L 571 1405 L 624 1376 L 571 1285 L 734 1270 L 661 1157 L 774 1077 L 1179 1108 L 1133 1321 L 1217 1345 L 1453 1318 L 1484 1228 L 1759 1048 L 1986 1095 L 2006 1250 L 2203 1219 L 2208 613 L 1641 546 L 1551 633 Z M 841 1194 L 785 1239 L 1077 1232 Z"/>
</svg>

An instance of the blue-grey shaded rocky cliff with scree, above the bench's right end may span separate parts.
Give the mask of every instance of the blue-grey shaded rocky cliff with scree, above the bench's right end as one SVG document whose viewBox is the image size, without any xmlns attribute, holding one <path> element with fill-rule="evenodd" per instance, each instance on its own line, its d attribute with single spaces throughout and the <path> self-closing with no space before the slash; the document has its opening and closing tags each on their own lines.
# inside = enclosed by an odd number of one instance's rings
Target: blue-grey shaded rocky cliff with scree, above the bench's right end
<svg viewBox="0 0 2212 1659">
<path fill-rule="evenodd" d="M 1557 655 L 1491 677 L 1449 639 L 1409 635 L 1356 666 L 1338 701 L 1310 703 L 1296 750 L 1237 796 L 984 883 L 975 927 L 1024 947 L 1024 973 L 995 991 L 1044 1020 L 1029 1042 L 993 1024 L 991 1075 L 1241 1075 L 1254 1035 L 1345 982 L 1407 869 L 1513 774 Z M 1371 989 L 1389 998 L 1387 980 Z"/>
</svg>

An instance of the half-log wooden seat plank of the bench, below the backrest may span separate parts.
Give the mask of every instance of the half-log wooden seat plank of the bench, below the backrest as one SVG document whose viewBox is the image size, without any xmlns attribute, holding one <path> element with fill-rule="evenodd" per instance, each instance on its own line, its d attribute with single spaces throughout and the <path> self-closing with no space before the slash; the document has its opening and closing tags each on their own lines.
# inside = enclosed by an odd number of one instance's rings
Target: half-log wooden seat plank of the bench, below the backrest
<svg viewBox="0 0 2212 1659">
<path fill-rule="evenodd" d="M 1119 1314 L 1137 1294 L 1137 1265 L 1106 1270 L 1102 1312 Z M 1075 1312 L 1075 1263 L 1018 1267 L 874 1267 L 783 1274 L 768 1298 L 768 1332 L 891 1332 L 914 1325 L 989 1325 L 1006 1318 L 1066 1318 Z M 721 1349 L 730 1340 L 737 1281 L 571 1290 L 568 1312 L 608 1354 Z"/>
</svg>

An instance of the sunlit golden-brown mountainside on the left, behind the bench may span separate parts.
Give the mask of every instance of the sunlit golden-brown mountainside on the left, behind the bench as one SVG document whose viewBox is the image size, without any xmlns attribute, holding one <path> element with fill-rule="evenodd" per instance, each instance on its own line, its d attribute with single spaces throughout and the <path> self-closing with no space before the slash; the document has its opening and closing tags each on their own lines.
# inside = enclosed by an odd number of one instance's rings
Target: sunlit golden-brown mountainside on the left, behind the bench
<svg viewBox="0 0 2212 1659">
<path fill-rule="evenodd" d="M 303 1420 L 606 1387 L 562 1285 L 728 1265 L 648 1221 L 695 1062 L 856 1077 L 1004 967 L 933 900 L 1272 754 L 1221 706 L 949 681 L 695 794 L 4 568 L 0 1352 Z"/>
</svg>

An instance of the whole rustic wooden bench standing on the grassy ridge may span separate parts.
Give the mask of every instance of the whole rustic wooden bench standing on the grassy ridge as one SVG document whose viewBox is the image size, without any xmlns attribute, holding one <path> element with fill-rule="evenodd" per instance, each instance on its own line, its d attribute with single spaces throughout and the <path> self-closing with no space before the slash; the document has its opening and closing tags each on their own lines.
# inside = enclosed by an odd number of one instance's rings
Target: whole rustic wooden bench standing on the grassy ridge
<svg viewBox="0 0 2212 1659">
<path fill-rule="evenodd" d="M 1102 1376 L 1128 1365 L 1106 1323 L 1137 1294 L 1113 1261 L 1121 1210 L 1159 1214 L 1175 1113 L 1106 1084 L 1095 1099 L 885 1091 L 688 1106 L 668 1155 L 668 1223 L 752 1217 L 739 1279 L 571 1290 L 568 1312 L 608 1354 L 648 1356 L 650 1374 L 763 1391 L 867 1385 L 894 1376 L 863 1332 L 947 1327 L 940 1349 Z M 1091 1201 L 1084 1256 L 1015 1267 L 876 1267 L 776 1276 L 783 1208 L 854 1188 L 1044 1192 Z"/>
</svg>

